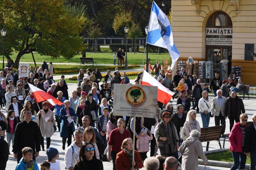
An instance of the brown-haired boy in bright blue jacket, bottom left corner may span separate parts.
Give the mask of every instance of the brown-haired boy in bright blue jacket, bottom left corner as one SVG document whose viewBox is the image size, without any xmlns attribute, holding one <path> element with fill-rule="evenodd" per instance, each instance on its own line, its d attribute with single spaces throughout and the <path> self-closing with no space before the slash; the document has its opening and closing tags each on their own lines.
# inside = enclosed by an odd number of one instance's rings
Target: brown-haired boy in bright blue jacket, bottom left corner
<svg viewBox="0 0 256 170">
<path fill-rule="evenodd" d="M 16 166 L 15 170 L 39 170 L 37 163 L 32 160 L 33 149 L 30 147 L 25 147 L 22 149 L 22 158 L 19 164 Z"/>
</svg>

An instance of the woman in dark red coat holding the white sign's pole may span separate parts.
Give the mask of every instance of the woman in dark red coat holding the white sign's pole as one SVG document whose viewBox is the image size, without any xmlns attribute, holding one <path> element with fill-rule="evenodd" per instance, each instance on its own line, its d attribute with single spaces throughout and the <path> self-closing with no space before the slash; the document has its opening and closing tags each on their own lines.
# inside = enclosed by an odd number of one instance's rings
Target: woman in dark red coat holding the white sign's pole
<svg viewBox="0 0 256 170">
<path fill-rule="evenodd" d="M 115 160 L 115 167 L 117 170 L 135 170 L 143 167 L 139 152 L 134 150 L 134 161 L 133 160 L 133 140 L 126 138 L 123 140 L 122 151 L 117 154 Z"/>
</svg>

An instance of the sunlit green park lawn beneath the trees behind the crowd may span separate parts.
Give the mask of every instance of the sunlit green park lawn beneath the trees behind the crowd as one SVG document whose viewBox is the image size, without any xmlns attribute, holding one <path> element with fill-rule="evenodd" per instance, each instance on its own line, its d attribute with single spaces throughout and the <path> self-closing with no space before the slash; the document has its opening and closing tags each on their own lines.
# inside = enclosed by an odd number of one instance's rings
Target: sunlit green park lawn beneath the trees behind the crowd
<svg viewBox="0 0 256 170">
<path fill-rule="evenodd" d="M 46 60 L 47 63 L 49 63 L 49 61 L 52 61 L 53 64 L 54 63 L 80 63 L 80 58 L 82 57 L 81 55 L 75 56 L 71 59 L 65 59 L 63 57 L 59 57 L 57 59 L 52 59 L 49 56 L 41 56 L 38 53 L 33 53 L 36 62 L 42 62 L 42 60 Z M 133 54 L 128 52 L 127 53 L 127 59 L 128 59 L 128 64 L 142 64 L 143 61 L 143 56 L 144 53 L 137 53 L 137 54 Z M 11 56 L 11 59 L 15 60 L 16 54 L 13 55 L 13 57 Z M 98 52 L 98 53 L 86 53 L 86 57 L 90 57 L 93 58 L 94 60 L 97 61 L 97 64 L 113 64 L 113 53 L 112 52 Z M 151 59 L 151 64 L 155 64 L 156 60 L 161 60 L 161 59 L 170 59 L 170 54 L 168 53 L 161 53 L 161 54 L 157 54 L 157 53 L 149 53 L 148 54 L 148 58 Z M 33 62 L 32 59 L 32 55 L 31 54 L 25 54 L 23 57 L 21 57 L 20 62 Z M 146 54 L 145 54 L 145 59 L 144 59 L 144 64 L 146 61 Z M 160 62 L 162 63 L 162 62 Z"/>
</svg>

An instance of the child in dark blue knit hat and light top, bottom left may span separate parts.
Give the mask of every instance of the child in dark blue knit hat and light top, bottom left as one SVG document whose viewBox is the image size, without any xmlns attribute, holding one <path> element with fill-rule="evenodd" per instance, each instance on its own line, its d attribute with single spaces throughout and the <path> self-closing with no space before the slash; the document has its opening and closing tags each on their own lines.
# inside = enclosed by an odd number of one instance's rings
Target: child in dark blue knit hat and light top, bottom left
<svg viewBox="0 0 256 170">
<path fill-rule="evenodd" d="M 60 170 L 60 163 L 58 162 L 59 151 L 56 148 L 49 147 L 46 151 L 47 154 L 47 162 L 50 163 L 50 170 Z"/>
</svg>

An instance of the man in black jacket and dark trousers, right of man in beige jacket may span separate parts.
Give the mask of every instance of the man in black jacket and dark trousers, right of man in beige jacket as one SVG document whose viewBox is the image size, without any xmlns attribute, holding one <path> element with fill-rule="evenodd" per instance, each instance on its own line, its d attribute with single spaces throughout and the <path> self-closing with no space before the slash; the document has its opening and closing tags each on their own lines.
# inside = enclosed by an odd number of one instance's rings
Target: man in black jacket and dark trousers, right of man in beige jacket
<svg viewBox="0 0 256 170">
<path fill-rule="evenodd" d="M 228 117 L 230 123 L 230 132 L 234 125 L 234 121 L 239 122 L 240 114 L 245 113 L 245 105 L 243 100 L 237 96 L 237 92 L 232 92 L 231 97 L 227 99 L 225 104 L 225 117 Z"/>
</svg>

